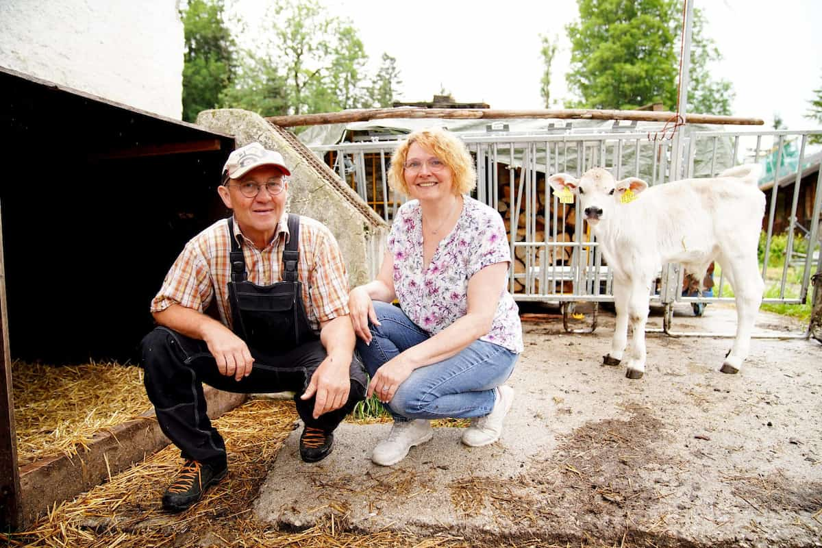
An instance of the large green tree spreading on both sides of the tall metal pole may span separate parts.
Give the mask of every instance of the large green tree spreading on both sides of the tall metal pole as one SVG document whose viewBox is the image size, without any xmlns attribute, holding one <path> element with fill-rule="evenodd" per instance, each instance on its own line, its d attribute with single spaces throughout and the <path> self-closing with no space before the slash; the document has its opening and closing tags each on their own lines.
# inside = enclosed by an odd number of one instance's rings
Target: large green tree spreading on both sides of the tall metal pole
<svg viewBox="0 0 822 548">
<path fill-rule="evenodd" d="M 580 21 L 568 25 L 570 90 L 580 100 L 569 106 L 637 108 L 677 106 L 681 4 L 676 0 L 578 0 Z M 544 49 L 544 45 L 543 45 Z M 544 56 L 544 53 L 543 53 Z M 731 82 L 715 80 L 713 63 L 722 54 L 694 10 L 686 112 L 730 114 Z"/>
</svg>

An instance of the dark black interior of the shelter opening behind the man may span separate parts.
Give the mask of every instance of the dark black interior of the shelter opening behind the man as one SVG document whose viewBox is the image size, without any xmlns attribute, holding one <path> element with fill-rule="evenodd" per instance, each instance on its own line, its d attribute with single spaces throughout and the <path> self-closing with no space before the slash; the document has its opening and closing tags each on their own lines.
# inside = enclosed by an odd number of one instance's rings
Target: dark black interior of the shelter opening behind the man
<svg viewBox="0 0 822 548">
<path fill-rule="evenodd" d="M 134 362 L 174 257 L 227 214 L 233 137 L 5 69 L 0 96 L 12 358 Z"/>
</svg>

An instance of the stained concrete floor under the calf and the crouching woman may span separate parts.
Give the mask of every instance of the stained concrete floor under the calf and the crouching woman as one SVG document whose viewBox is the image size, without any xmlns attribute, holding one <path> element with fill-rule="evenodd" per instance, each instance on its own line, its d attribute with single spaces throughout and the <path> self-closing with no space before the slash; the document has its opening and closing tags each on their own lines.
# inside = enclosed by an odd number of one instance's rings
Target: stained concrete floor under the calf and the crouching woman
<svg viewBox="0 0 822 548">
<path fill-rule="evenodd" d="M 702 318 L 682 306 L 674 327 L 731 332 L 735 318 L 730 306 Z M 803 328 L 764 312 L 757 321 L 760 334 Z M 628 380 L 601 365 L 612 329 L 607 312 L 593 334 L 566 334 L 556 316 L 524 323 L 514 407 L 484 448 L 440 428 L 378 467 L 369 455 L 390 425 L 344 424 L 334 452 L 307 464 L 294 431 L 256 515 L 298 529 L 333 515 L 356 531 L 477 544 L 822 546 L 822 345 L 754 339 L 742 371 L 724 375 L 730 339 L 649 334 L 647 372 Z"/>
</svg>

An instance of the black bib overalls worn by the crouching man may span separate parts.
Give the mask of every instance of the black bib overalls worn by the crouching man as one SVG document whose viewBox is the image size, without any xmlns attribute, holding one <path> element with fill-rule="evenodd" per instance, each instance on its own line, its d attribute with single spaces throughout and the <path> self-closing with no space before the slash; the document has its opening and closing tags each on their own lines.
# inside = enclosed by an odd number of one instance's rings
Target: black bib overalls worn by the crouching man
<svg viewBox="0 0 822 548">
<path fill-rule="evenodd" d="M 260 286 L 247 281 L 242 247 L 233 236 L 233 219 L 229 219 L 229 239 L 233 331 L 246 342 L 254 357 L 252 373 L 242 380 L 221 375 L 204 341 L 173 329 L 158 327 L 141 343 L 145 390 L 164 434 L 180 448 L 183 458 L 212 464 L 215 469 L 225 467 L 225 445 L 206 415 L 202 383 L 244 394 L 293 391 L 303 423 L 325 431 L 333 431 L 339 425 L 363 399 L 367 386 L 363 364 L 355 356 L 349 367 L 349 400 L 342 408 L 314 419 L 314 398 L 299 398 L 327 355 L 308 324 L 302 302 L 302 282 L 298 279 L 299 216 L 289 214 L 282 282 Z"/>
</svg>

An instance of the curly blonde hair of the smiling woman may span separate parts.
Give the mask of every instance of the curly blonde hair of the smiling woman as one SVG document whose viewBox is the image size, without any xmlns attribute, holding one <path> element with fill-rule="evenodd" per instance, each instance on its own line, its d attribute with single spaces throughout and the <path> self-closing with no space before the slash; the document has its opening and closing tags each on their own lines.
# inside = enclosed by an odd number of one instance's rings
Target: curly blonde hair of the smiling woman
<svg viewBox="0 0 822 548">
<path fill-rule="evenodd" d="M 414 143 L 430 150 L 454 173 L 454 193 L 459 196 L 468 194 L 477 186 L 477 175 L 473 160 L 465 144 L 459 137 L 441 127 L 429 127 L 413 131 L 399 143 L 391 155 L 391 166 L 388 170 L 388 182 L 395 191 L 409 196 L 409 187 L 405 184 L 405 159 L 409 148 Z"/>
</svg>

